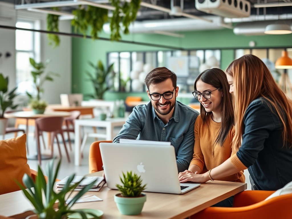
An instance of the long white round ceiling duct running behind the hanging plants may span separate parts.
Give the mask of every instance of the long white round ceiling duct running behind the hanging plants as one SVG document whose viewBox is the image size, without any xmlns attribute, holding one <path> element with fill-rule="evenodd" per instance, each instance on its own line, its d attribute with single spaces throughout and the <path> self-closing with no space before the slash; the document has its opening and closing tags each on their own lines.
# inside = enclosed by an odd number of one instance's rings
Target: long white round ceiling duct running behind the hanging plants
<svg viewBox="0 0 292 219">
<path fill-rule="evenodd" d="M 215 16 L 206 16 L 212 23 L 204 20 L 196 20 L 189 18 L 175 18 L 165 20 L 145 20 L 135 21 L 129 26 L 130 33 L 154 33 L 155 31 L 192 31 L 192 30 L 208 30 L 208 29 L 223 29 L 220 25 L 223 18 Z M 121 27 L 122 28 L 122 27 Z M 103 30 L 110 33 L 109 23 L 103 25 Z"/>
</svg>

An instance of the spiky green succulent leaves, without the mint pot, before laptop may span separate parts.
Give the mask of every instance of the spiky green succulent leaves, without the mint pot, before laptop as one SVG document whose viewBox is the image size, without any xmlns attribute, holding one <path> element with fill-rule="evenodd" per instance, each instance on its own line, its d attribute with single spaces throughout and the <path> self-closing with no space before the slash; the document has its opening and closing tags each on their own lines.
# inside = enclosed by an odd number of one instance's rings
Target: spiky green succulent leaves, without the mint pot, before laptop
<svg viewBox="0 0 292 219">
<path fill-rule="evenodd" d="M 132 174 L 132 171 L 127 172 L 127 175 L 123 172 L 123 179 L 120 177 L 120 180 L 123 185 L 117 184 L 116 187 L 124 197 L 138 197 L 146 189 L 146 184 L 142 185 L 141 176 Z"/>
</svg>

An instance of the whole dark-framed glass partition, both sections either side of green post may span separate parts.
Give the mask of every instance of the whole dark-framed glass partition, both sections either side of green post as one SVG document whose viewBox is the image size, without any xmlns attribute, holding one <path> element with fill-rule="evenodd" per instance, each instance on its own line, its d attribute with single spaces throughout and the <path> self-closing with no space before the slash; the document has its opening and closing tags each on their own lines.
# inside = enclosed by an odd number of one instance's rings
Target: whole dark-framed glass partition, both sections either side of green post
<svg viewBox="0 0 292 219">
<path fill-rule="evenodd" d="M 275 69 L 274 64 L 281 57 L 283 50 L 288 51 L 288 55 L 292 57 L 292 48 L 234 48 L 233 50 L 234 59 L 246 54 L 258 56 L 270 69 L 277 82 L 282 73 L 288 73 L 289 78 L 292 78 L 292 69 Z M 167 67 L 178 77 L 177 85 L 180 94 L 190 94 L 194 89 L 195 79 L 202 71 L 221 67 L 221 49 L 111 52 L 107 53 L 107 62 L 108 65 L 114 63 L 112 91 L 146 91 L 144 83 L 146 74 L 156 67 Z"/>
</svg>

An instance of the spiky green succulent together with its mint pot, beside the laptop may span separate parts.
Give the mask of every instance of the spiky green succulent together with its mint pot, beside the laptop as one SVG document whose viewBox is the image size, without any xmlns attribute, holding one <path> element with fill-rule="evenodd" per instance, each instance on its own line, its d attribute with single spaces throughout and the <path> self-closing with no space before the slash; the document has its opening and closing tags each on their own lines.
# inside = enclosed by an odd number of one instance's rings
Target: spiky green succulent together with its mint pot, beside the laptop
<svg viewBox="0 0 292 219">
<path fill-rule="evenodd" d="M 146 201 L 146 194 L 141 193 L 146 189 L 146 184 L 142 185 L 141 176 L 132 171 L 123 173 L 123 179 L 120 177 L 123 185 L 117 184 L 117 188 L 121 193 L 114 196 L 114 201 L 121 214 L 136 215 L 140 214 Z"/>
</svg>

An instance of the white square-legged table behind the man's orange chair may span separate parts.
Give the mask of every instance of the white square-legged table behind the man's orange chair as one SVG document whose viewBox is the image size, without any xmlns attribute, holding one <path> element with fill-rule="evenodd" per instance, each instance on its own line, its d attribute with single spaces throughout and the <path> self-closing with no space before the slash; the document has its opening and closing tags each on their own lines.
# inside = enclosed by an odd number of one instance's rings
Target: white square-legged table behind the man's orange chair
<svg viewBox="0 0 292 219">
<path fill-rule="evenodd" d="M 105 121 L 101 121 L 98 118 L 93 119 L 76 119 L 75 120 L 75 166 L 81 164 L 81 151 L 80 151 L 80 136 L 81 126 L 101 127 L 106 129 L 105 134 L 91 133 L 89 136 L 97 138 L 105 138 L 105 140 L 113 140 L 113 130 L 116 126 L 123 126 L 126 123 L 127 118 L 107 118 Z"/>
</svg>

